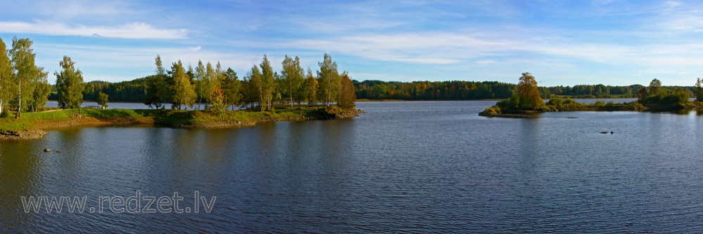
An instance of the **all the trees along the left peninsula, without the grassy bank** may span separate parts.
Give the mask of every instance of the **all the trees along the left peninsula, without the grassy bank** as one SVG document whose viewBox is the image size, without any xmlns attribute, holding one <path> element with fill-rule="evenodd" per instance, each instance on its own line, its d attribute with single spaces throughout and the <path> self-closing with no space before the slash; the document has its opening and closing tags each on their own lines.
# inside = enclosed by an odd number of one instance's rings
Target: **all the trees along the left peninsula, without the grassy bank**
<svg viewBox="0 0 703 234">
<path fill-rule="evenodd" d="M 96 100 L 107 106 L 108 96 L 112 101 L 144 102 L 155 109 L 191 108 L 204 103 L 205 109 L 224 111 L 228 106 L 257 108 L 272 111 L 276 102 L 307 103 L 315 106 L 336 104 L 342 109 L 353 109 L 356 102 L 356 87 L 347 71 L 339 73 L 337 62 L 325 53 L 319 62 L 319 71 L 307 73 L 300 65 L 299 57 L 288 57 L 282 62 L 283 69 L 273 70 L 264 55 L 261 64 L 254 64 L 240 80 L 233 69 L 222 69 L 219 62 L 213 67 L 210 62 L 198 61 L 195 69 L 184 67 L 179 60 L 169 70 L 162 64 L 160 55 L 155 57 L 155 74 L 134 81 L 108 83 L 104 81 L 84 82 L 83 73 L 76 62 L 64 56 L 56 71 L 56 85 L 49 85 L 49 72 L 38 67 L 36 53 L 30 39 L 13 39 L 12 47 L 0 39 L 0 113 L 8 116 L 15 111 L 20 118 L 22 111 L 39 111 L 49 97 L 56 99 L 64 108 L 77 108 L 84 99 Z M 200 109 L 200 107 L 197 107 Z"/>
</svg>

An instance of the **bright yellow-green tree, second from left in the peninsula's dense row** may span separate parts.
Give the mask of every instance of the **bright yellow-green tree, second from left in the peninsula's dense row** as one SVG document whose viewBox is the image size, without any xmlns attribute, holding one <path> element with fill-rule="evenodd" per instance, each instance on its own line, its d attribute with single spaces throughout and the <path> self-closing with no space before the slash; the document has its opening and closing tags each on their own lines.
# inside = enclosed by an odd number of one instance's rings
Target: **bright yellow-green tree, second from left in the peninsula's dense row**
<svg viewBox="0 0 703 234">
<path fill-rule="evenodd" d="M 192 109 L 197 95 L 195 94 L 195 87 L 191 84 L 191 78 L 188 76 L 186 69 L 183 68 L 181 60 L 173 63 L 171 73 L 174 80 L 174 106 L 176 109 L 181 109 L 181 105 L 186 106 L 186 109 L 188 107 Z"/>
</svg>

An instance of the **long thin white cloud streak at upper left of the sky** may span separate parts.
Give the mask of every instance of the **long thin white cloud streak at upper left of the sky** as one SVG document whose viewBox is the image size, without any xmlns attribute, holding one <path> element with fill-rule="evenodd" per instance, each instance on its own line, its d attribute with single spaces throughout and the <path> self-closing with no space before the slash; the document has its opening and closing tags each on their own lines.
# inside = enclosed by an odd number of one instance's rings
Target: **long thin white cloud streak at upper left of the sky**
<svg viewBox="0 0 703 234">
<path fill-rule="evenodd" d="M 186 39 L 187 29 L 156 29 L 143 22 L 116 27 L 67 26 L 51 22 L 0 22 L 0 32 L 60 36 L 102 36 L 119 39 Z"/>
</svg>

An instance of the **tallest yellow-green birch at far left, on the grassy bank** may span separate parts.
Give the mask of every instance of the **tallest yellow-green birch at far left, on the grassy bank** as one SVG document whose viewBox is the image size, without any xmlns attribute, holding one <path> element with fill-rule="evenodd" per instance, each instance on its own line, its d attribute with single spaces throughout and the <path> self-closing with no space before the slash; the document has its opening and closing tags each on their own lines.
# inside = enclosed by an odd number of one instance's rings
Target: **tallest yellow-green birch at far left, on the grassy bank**
<svg viewBox="0 0 703 234">
<path fill-rule="evenodd" d="M 34 58 L 37 54 L 32 49 L 32 41 L 30 39 L 12 40 L 12 49 L 9 51 L 9 57 L 13 64 L 14 76 L 11 85 L 15 87 L 15 95 L 18 101 L 18 110 L 15 118 L 20 118 L 22 112 L 22 100 L 30 100 L 34 96 L 35 83 L 42 76 L 43 71 L 34 64 Z M 47 97 L 44 97 L 47 98 Z"/>
</svg>

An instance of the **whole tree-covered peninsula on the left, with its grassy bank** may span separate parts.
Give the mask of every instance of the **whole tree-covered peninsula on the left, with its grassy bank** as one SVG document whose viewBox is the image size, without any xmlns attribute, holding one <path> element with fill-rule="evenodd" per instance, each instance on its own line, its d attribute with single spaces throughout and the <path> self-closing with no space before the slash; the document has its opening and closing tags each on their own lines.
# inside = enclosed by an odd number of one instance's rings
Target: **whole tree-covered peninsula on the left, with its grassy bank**
<svg viewBox="0 0 703 234">
<path fill-rule="evenodd" d="M 108 88 L 88 86 L 77 62 L 63 56 L 54 72 L 56 85 L 47 81 L 48 71 L 35 64 L 32 40 L 0 39 L 0 139 L 37 139 L 43 130 L 80 125 L 155 124 L 177 128 L 230 128 L 264 121 L 347 118 L 363 111 L 356 107 L 356 88 L 347 71 L 324 54 L 319 70 L 300 65 L 299 57 L 285 55 L 274 71 L 269 57 L 253 64 L 240 80 L 219 62 L 190 64 L 176 60 L 170 69 L 156 55 L 155 74 L 141 82 L 136 93 L 151 109 L 105 109 Z M 97 92 L 99 106 L 83 108 L 84 93 Z M 115 93 L 112 93 L 115 95 Z M 123 92 L 135 96 L 134 93 Z M 54 95 L 60 109 L 46 110 Z M 117 99 L 120 99 L 119 97 Z M 122 98 L 124 99 L 124 97 Z M 195 109 L 194 104 L 205 109 Z M 170 104 L 170 109 L 167 109 Z M 231 108 L 230 108 L 231 107 Z M 238 107 L 238 108 L 235 108 Z"/>
</svg>

